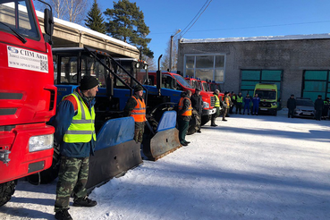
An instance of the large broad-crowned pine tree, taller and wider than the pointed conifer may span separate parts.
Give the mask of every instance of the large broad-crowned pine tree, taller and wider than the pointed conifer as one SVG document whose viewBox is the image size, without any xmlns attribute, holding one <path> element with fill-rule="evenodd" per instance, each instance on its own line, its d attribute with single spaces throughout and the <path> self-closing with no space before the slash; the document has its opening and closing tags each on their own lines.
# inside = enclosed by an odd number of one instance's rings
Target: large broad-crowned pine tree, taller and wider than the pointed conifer
<svg viewBox="0 0 330 220">
<path fill-rule="evenodd" d="M 150 30 L 144 22 L 144 14 L 136 3 L 129 0 L 114 2 L 114 9 L 106 9 L 107 33 L 113 38 L 121 39 L 140 49 L 141 55 L 153 57 L 154 53 L 148 48 L 151 38 L 147 38 Z"/>
</svg>

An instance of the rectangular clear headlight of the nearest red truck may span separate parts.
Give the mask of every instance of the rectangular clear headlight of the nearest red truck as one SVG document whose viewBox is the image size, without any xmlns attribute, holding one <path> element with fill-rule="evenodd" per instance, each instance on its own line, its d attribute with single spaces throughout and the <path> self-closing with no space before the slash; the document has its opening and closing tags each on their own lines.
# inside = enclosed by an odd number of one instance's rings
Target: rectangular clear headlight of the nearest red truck
<svg viewBox="0 0 330 220">
<path fill-rule="evenodd" d="M 29 151 L 35 152 L 44 149 L 53 148 L 54 144 L 54 135 L 40 135 L 40 136 L 33 136 L 30 137 L 29 140 Z"/>
</svg>

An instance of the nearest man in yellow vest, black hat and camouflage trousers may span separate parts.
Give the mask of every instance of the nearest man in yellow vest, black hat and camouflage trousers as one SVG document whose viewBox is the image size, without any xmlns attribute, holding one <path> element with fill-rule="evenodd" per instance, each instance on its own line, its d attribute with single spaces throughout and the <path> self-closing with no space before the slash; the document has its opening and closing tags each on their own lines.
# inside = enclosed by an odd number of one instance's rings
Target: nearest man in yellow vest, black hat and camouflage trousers
<svg viewBox="0 0 330 220">
<path fill-rule="evenodd" d="M 95 200 L 87 197 L 85 189 L 89 177 L 89 156 L 93 154 L 95 133 L 95 96 L 98 80 L 84 76 L 80 87 L 63 97 L 55 115 L 55 140 L 60 144 L 61 165 L 55 199 L 55 218 L 72 219 L 69 201 L 73 195 L 74 207 L 94 207 Z"/>
</svg>

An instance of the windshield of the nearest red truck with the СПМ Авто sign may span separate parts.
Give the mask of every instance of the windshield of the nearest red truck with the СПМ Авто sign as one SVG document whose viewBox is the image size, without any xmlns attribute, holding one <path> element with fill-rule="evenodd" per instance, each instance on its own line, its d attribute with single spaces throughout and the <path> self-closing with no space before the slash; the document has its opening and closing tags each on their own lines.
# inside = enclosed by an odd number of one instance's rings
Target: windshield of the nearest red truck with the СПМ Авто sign
<svg viewBox="0 0 330 220">
<path fill-rule="evenodd" d="M 13 30 L 27 38 L 39 38 L 36 20 L 30 1 L 0 0 L 0 30 L 12 33 Z"/>
</svg>

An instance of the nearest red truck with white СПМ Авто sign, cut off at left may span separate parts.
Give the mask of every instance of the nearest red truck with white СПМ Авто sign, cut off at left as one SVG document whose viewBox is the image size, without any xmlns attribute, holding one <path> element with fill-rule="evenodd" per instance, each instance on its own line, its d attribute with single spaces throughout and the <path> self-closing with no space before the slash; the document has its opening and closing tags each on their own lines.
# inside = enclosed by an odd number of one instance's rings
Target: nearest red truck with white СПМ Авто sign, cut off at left
<svg viewBox="0 0 330 220">
<path fill-rule="evenodd" d="M 49 6 L 49 5 L 48 5 Z M 51 36 L 54 21 L 45 10 L 45 36 L 31 0 L 0 0 L 0 207 L 21 177 L 52 165 L 56 88 Z"/>
</svg>

